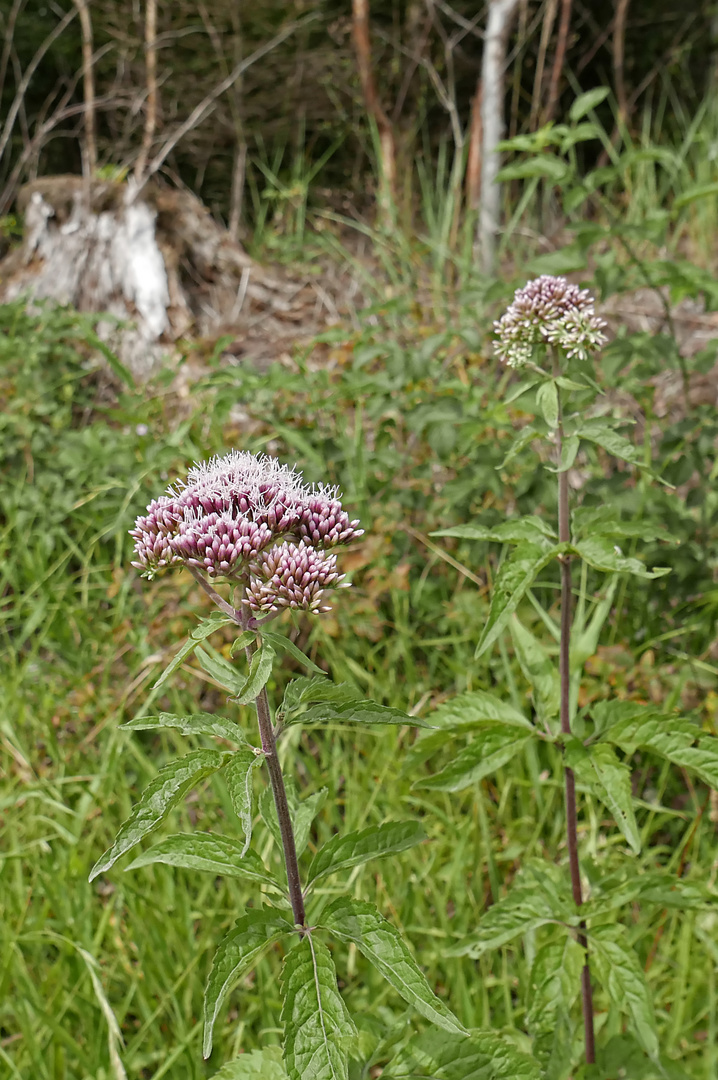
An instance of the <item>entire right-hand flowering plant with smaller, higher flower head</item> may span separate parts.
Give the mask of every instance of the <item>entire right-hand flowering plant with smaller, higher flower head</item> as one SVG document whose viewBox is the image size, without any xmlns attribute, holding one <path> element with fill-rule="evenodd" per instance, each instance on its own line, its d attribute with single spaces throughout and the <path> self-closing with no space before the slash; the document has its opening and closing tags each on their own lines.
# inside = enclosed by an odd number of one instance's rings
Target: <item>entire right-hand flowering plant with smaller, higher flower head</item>
<svg viewBox="0 0 718 1080">
<path fill-rule="evenodd" d="M 571 1016 L 579 994 L 582 1056 L 587 1066 L 597 1059 L 594 984 L 618 1014 L 627 1015 L 644 1052 L 659 1063 L 655 1016 L 644 967 L 626 930 L 615 921 L 615 913 L 636 901 L 692 906 L 704 903 L 706 894 L 665 870 L 641 876 L 635 863 L 631 865 L 641 850 L 641 834 L 629 759 L 636 750 L 650 751 L 718 786 L 718 739 L 653 705 L 601 701 L 579 711 L 582 669 L 596 651 L 619 576 L 652 579 L 668 572 L 660 567 L 647 569 L 638 558 L 625 556 L 621 544 L 626 538 L 667 537 L 645 522 L 621 519 L 611 507 L 579 505 L 571 513 L 569 473 L 582 445 L 594 444 L 631 467 L 646 468 L 642 454 L 617 430 L 621 421 L 598 407 L 601 391 L 595 356 L 606 339 L 588 292 L 564 278 L 541 276 L 516 292 L 495 327 L 499 359 L 524 377 L 510 400 L 530 392 L 536 402 L 533 422 L 518 433 L 500 468 L 529 447 L 538 451 L 543 467 L 556 476 L 557 519 L 548 521 L 542 513 L 496 527 L 457 526 L 437 535 L 495 541 L 510 549 L 493 580 L 476 656 L 486 653 L 504 633 L 511 635 L 515 658 L 531 688 L 532 715 L 498 696 L 469 691 L 428 717 L 442 732 L 422 737 L 414 753 L 416 761 L 425 760 L 435 747 L 445 745 L 447 730 L 471 733 L 471 741 L 453 753 L 448 765 L 418 782 L 424 788 L 456 792 L 509 765 L 531 743 L 555 744 L 560 750 L 568 875 L 546 861 L 525 861 L 505 899 L 489 908 L 477 931 L 452 953 L 478 958 L 520 934 L 551 928 L 531 936 L 536 951 L 526 1018 L 541 1076 L 561 1080 L 572 1074 L 578 1061 Z M 539 573 L 556 564 L 557 611 L 543 608 L 532 588 Z M 577 566 L 581 575 L 574 603 Z M 587 594 L 592 571 L 609 576 L 602 595 Z M 527 624 L 532 612 L 538 615 L 538 634 Z M 546 633 L 552 639 L 548 647 L 543 642 Z M 590 893 L 580 861 L 577 784 L 608 808 L 625 841 L 623 863 L 612 866 L 612 877 L 592 864 Z M 660 1064 L 656 1067 L 656 1076 L 663 1075 Z"/>
</svg>

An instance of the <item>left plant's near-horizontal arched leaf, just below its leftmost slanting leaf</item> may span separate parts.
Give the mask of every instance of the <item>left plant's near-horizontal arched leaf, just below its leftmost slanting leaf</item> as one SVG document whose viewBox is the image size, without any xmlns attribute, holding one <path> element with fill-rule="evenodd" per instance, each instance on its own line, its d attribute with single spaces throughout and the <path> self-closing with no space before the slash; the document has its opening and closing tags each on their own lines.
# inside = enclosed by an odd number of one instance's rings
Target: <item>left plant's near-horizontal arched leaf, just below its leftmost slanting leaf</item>
<svg viewBox="0 0 718 1080">
<path fill-rule="evenodd" d="M 258 854 L 254 851 L 245 852 L 236 840 L 214 833 L 177 833 L 165 836 L 154 847 L 138 855 L 127 866 L 127 870 L 151 866 L 153 863 L 206 870 L 208 874 L 244 878 L 246 881 L 260 881 L 281 889 Z"/>
</svg>

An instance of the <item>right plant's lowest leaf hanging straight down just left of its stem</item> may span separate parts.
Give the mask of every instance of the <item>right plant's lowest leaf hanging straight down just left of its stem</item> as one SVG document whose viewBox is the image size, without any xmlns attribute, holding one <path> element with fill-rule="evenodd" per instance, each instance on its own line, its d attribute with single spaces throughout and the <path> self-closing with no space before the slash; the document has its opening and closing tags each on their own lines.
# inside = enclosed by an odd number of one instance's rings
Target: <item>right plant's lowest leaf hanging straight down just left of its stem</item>
<svg viewBox="0 0 718 1080">
<path fill-rule="evenodd" d="M 565 935 L 542 946 L 531 966 L 526 1024 L 533 1037 L 533 1056 L 546 1078 L 566 1077 L 570 1070 L 570 1013 L 583 963 L 583 949 Z"/>
</svg>

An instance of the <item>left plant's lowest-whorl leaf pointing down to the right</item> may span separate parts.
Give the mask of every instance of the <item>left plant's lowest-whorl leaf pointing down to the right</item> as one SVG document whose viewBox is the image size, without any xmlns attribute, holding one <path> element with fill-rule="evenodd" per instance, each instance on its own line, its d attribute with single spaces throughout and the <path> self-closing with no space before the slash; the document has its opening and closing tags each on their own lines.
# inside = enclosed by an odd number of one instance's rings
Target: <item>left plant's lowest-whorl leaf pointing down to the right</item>
<svg viewBox="0 0 718 1080">
<path fill-rule="evenodd" d="M 447 1031 L 464 1032 L 448 1005 L 431 989 L 398 930 L 374 904 L 340 896 L 327 907 L 323 926 L 339 941 L 356 945 L 405 1001 L 432 1024 Z"/>
</svg>

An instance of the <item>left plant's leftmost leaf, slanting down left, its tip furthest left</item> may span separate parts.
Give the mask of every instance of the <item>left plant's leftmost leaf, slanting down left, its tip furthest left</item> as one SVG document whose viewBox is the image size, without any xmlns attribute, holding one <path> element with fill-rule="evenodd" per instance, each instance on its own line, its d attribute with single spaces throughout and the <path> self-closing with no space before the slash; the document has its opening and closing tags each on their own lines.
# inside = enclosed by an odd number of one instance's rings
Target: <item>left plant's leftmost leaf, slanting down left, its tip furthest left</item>
<svg viewBox="0 0 718 1080">
<path fill-rule="evenodd" d="M 125 851 L 158 827 L 167 813 L 201 780 L 221 769 L 229 753 L 194 750 L 160 769 L 141 794 L 139 802 L 120 826 L 114 843 L 101 855 L 90 873 L 90 880 L 108 870 Z"/>
</svg>

